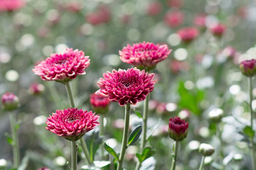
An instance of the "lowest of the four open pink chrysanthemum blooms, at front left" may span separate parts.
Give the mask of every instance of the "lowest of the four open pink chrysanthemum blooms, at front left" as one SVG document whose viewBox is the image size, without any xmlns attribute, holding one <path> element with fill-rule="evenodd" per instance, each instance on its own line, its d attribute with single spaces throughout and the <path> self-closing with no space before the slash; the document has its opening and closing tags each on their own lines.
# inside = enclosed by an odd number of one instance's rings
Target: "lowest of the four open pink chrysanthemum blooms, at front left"
<svg viewBox="0 0 256 170">
<path fill-rule="evenodd" d="M 78 108 L 68 108 L 57 110 L 46 120 L 47 130 L 58 136 L 65 137 L 70 141 L 77 141 L 88 132 L 95 128 L 99 123 L 99 115 L 92 111 L 82 111 Z"/>
</svg>

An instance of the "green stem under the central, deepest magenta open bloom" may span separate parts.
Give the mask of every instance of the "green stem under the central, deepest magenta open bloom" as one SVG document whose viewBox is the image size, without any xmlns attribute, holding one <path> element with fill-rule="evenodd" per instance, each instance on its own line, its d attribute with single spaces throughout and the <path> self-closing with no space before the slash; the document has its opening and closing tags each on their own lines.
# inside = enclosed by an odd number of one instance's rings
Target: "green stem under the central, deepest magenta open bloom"
<svg viewBox="0 0 256 170">
<path fill-rule="evenodd" d="M 123 133 L 123 137 L 122 137 L 122 147 L 121 147 L 121 152 L 120 152 L 120 156 L 119 156 L 119 162 L 117 164 L 117 170 L 121 170 L 122 169 L 122 163 L 124 161 L 124 153 L 125 153 L 125 150 L 127 149 L 128 131 L 129 131 L 129 114 L 130 114 L 130 111 L 131 111 L 131 106 L 128 103 L 125 106 L 124 133 Z"/>
</svg>

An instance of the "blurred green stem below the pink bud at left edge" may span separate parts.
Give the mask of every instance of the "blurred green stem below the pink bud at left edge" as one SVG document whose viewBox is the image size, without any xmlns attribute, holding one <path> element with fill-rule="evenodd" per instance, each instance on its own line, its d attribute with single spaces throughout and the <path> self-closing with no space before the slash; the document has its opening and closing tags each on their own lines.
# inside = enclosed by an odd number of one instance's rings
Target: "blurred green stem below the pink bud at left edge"
<svg viewBox="0 0 256 170">
<path fill-rule="evenodd" d="M 12 138 L 12 147 L 14 154 L 14 169 L 18 169 L 20 164 L 20 153 L 18 147 L 18 133 L 16 129 L 16 119 L 14 113 L 9 113 L 10 124 L 11 124 L 11 138 Z"/>
</svg>

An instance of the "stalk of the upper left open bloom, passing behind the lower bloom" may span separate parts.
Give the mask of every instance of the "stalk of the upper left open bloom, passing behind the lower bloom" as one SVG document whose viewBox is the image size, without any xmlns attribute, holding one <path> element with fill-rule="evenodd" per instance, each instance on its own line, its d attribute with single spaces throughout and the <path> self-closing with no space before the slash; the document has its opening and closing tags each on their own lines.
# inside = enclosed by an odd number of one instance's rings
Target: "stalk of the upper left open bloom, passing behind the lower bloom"
<svg viewBox="0 0 256 170">
<path fill-rule="evenodd" d="M 69 101 L 70 101 L 70 106 L 72 108 L 75 108 L 75 101 L 74 101 L 74 97 L 73 97 L 73 92 L 72 92 L 72 88 L 71 88 L 71 85 L 70 85 L 70 81 L 68 81 L 66 84 L 65 84 L 65 87 L 66 87 L 66 90 L 68 92 L 68 98 L 69 98 Z M 92 159 L 90 159 L 90 153 L 88 151 L 88 148 L 85 144 L 85 140 L 83 140 L 83 137 L 80 138 L 80 145 L 82 147 L 82 152 L 84 152 L 85 154 L 85 157 L 86 157 L 86 160 L 88 162 L 88 164 L 93 164 L 92 163 Z"/>
</svg>

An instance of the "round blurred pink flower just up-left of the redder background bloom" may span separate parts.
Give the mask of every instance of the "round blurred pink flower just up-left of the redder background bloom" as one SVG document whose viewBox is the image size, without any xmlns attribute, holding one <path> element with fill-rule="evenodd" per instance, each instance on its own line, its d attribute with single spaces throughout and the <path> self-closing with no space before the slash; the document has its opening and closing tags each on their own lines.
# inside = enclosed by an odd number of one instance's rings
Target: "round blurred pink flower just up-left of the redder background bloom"
<svg viewBox="0 0 256 170">
<path fill-rule="evenodd" d="M 171 28 L 181 26 L 184 21 L 184 14 L 181 11 L 169 11 L 164 16 L 164 22 Z"/>
</svg>

